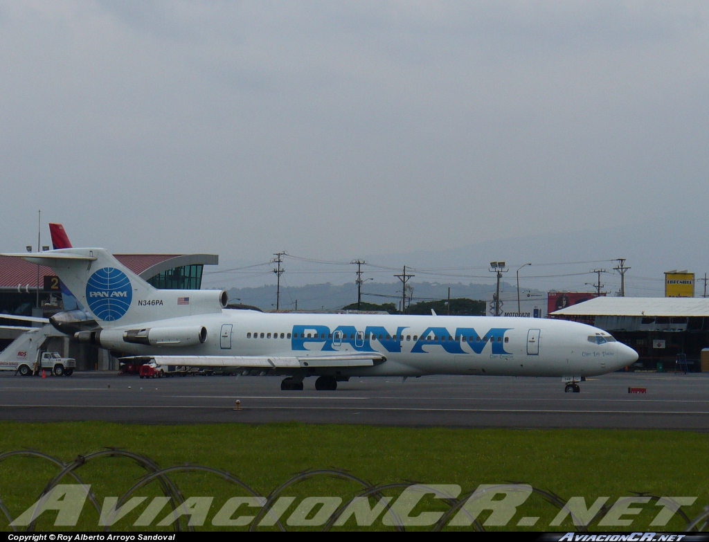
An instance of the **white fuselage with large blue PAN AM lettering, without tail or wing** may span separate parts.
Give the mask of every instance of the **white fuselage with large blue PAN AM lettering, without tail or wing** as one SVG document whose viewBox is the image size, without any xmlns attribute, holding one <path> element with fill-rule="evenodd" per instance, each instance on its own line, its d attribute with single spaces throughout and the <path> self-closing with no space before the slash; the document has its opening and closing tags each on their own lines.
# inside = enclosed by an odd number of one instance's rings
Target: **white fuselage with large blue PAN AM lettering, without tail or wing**
<svg viewBox="0 0 709 542">
<path fill-rule="evenodd" d="M 320 368 L 339 376 L 595 376 L 617 371 L 637 353 L 601 329 L 563 320 L 362 314 L 221 313 L 143 322 L 142 329 L 206 328 L 201 344 L 123 341 L 136 326 L 101 332 L 105 347 L 138 356 L 323 356 L 378 352 L 370 367 Z M 287 371 L 280 373 L 286 374 Z"/>
</svg>

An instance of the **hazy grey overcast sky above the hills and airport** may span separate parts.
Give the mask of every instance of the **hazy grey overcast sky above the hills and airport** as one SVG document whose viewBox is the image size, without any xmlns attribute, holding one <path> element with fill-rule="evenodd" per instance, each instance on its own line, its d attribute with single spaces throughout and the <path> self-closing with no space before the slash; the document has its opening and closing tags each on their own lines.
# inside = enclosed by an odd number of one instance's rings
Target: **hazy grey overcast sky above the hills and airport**
<svg viewBox="0 0 709 542">
<path fill-rule="evenodd" d="M 0 249 L 36 244 L 40 208 L 43 244 L 62 222 L 224 261 L 648 220 L 681 243 L 707 223 L 708 23 L 701 1 L 0 1 Z"/>
</svg>

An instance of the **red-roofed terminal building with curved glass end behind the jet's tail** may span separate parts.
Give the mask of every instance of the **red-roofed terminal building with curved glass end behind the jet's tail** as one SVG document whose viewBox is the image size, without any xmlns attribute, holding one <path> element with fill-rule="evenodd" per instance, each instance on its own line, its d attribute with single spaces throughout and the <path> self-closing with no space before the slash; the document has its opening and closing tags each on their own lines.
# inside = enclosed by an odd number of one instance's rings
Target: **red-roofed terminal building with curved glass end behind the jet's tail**
<svg viewBox="0 0 709 542">
<path fill-rule="evenodd" d="M 161 290 L 199 290 L 203 268 L 218 265 L 216 254 L 114 254 L 130 271 Z M 23 332 L 23 322 L 2 315 L 50 317 L 65 310 L 54 271 L 20 258 L 0 256 L 0 350 Z M 107 351 L 89 344 L 52 339 L 48 349 L 76 358 L 77 370 L 117 369 Z"/>
</svg>

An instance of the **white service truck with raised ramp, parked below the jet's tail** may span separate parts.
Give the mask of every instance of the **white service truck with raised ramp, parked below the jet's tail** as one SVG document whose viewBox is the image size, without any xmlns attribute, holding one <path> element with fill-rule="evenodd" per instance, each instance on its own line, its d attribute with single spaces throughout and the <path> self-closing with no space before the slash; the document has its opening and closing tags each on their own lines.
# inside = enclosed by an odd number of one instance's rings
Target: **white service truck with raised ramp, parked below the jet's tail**
<svg viewBox="0 0 709 542">
<path fill-rule="evenodd" d="M 77 368 L 73 358 L 62 358 L 58 352 L 43 351 L 51 337 L 66 337 L 47 324 L 28 329 L 0 353 L 0 371 L 15 371 L 21 376 L 41 374 L 43 369 L 56 376 L 70 376 Z"/>
</svg>

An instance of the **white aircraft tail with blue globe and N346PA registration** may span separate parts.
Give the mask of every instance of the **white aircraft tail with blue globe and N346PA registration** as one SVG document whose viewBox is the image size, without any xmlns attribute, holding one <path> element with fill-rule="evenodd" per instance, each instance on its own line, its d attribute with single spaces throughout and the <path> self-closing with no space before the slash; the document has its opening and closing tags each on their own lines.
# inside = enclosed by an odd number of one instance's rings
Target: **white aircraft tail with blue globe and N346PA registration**
<svg viewBox="0 0 709 542">
<path fill-rule="evenodd" d="M 221 312 L 228 303 L 226 292 L 218 290 L 157 290 L 104 249 L 6 256 L 50 267 L 106 329 Z"/>
</svg>

